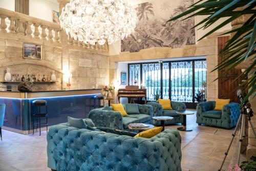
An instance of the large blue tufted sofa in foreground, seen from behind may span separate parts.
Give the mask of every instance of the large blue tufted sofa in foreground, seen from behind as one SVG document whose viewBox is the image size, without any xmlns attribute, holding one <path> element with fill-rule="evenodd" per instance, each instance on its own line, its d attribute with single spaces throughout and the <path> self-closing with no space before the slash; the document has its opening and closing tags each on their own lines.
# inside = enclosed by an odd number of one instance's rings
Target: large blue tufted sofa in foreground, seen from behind
<svg viewBox="0 0 256 171">
<path fill-rule="evenodd" d="M 147 138 L 52 126 L 47 134 L 48 167 L 57 171 L 181 170 L 181 137 L 168 129 Z"/>
</svg>

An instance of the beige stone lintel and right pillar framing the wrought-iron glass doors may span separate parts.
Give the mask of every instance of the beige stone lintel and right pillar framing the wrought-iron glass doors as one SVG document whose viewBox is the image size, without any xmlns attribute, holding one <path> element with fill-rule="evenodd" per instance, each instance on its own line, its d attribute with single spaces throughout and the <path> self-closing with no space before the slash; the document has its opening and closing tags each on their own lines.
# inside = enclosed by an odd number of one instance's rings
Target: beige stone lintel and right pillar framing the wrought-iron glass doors
<svg viewBox="0 0 256 171">
<path fill-rule="evenodd" d="M 166 58 L 182 58 L 193 56 L 206 56 L 207 61 L 207 100 L 218 98 L 218 72 L 211 72 L 218 64 L 218 45 L 217 33 L 208 36 L 198 42 L 197 45 L 184 46 L 183 48 L 150 48 L 140 52 L 122 52 L 119 55 L 110 56 L 110 83 L 116 79 L 115 62 L 150 60 Z"/>
</svg>

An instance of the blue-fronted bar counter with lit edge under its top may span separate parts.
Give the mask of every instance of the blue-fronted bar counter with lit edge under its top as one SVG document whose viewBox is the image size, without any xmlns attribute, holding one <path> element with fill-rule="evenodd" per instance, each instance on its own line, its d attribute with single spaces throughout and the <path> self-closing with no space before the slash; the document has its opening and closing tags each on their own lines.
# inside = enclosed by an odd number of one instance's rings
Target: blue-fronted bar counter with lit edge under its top
<svg viewBox="0 0 256 171">
<path fill-rule="evenodd" d="M 100 93 L 101 89 L 42 92 L 0 91 L 0 104 L 6 104 L 3 129 L 30 134 L 33 131 L 31 116 L 37 112 L 32 101 L 39 99 L 47 101 L 49 126 L 67 122 L 68 116 L 87 118 L 89 112 L 98 105 L 95 96 Z M 45 108 L 42 107 L 41 111 L 45 112 Z M 41 123 L 43 122 L 46 122 L 46 118 L 41 118 Z"/>
</svg>

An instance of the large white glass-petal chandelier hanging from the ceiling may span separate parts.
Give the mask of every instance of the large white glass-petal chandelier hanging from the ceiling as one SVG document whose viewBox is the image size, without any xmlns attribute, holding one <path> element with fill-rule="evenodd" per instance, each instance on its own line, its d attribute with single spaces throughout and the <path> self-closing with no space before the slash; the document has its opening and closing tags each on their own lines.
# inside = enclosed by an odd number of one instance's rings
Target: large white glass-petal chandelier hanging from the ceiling
<svg viewBox="0 0 256 171">
<path fill-rule="evenodd" d="M 71 0 L 62 8 L 60 27 L 85 44 L 113 44 L 135 29 L 137 14 L 126 0 Z"/>
</svg>

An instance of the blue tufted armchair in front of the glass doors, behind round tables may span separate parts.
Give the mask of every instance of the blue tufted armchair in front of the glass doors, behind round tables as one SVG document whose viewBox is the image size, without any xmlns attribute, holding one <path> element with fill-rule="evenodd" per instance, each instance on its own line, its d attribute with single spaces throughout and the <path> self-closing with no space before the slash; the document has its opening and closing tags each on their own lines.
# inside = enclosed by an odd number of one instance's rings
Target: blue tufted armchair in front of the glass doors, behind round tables
<svg viewBox="0 0 256 171">
<path fill-rule="evenodd" d="M 171 101 L 173 110 L 166 110 L 162 108 L 162 105 L 155 101 L 147 102 L 147 105 L 153 106 L 154 116 L 172 116 L 173 120 L 165 121 L 165 124 L 175 124 L 183 122 L 183 115 L 179 115 L 176 112 L 184 112 L 186 110 L 186 105 L 183 102 Z M 154 125 L 161 125 L 160 121 L 153 120 Z"/>
</svg>

